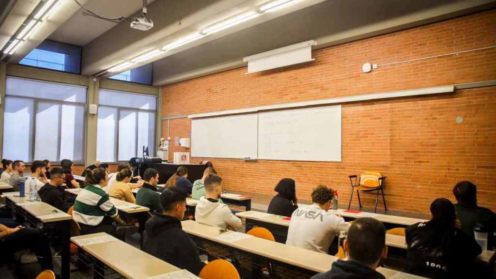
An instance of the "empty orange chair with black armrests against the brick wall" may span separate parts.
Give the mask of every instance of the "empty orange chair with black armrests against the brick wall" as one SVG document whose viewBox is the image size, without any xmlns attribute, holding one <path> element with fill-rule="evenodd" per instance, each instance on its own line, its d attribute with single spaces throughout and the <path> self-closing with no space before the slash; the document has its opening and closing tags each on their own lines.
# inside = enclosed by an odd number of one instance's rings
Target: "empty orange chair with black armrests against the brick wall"
<svg viewBox="0 0 496 279">
<path fill-rule="evenodd" d="M 374 212 L 377 211 L 377 200 L 379 199 L 379 191 L 382 195 L 382 201 L 384 202 L 384 210 L 387 210 L 386 208 L 386 200 L 384 199 L 384 180 L 386 179 L 385 176 L 382 176 L 380 172 L 376 171 L 366 171 L 360 175 L 357 183 L 357 175 L 350 175 L 348 176 L 350 178 L 350 183 L 351 183 L 351 196 L 350 196 L 350 203 L 348 204 L 348 209 L 351 207 L 351 200 L 353 199 L 353 192 L 357 190 L 357 195 L 358 195 L 358 204 L 360 205 L 360 208 L 362 208 L 362 202 L 360 201 L 360 192 L 372 192 L 376 191 L 377 195 L 375 197 L 375 208 Z M 355 181 L 352 180 L 352 178 L 355 178 Z"/>
</svg>

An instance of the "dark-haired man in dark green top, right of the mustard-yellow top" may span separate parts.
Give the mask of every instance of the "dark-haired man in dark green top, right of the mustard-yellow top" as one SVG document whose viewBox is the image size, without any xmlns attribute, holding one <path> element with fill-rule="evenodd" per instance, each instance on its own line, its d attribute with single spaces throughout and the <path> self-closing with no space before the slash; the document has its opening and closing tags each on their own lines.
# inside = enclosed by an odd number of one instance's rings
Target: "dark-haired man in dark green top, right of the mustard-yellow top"
<svg viewBox="0 0 496 279">
<path fill-rule="evenodd" d="M 160 194 L 157 192 L 158 171 L 152 168 L 146 169 L 143 173 L 143 178 L 145 182 L 136 194 L 136 205 L 147 207 L 150 212 L 155 210 L 162 211 Z"/>
</svg>

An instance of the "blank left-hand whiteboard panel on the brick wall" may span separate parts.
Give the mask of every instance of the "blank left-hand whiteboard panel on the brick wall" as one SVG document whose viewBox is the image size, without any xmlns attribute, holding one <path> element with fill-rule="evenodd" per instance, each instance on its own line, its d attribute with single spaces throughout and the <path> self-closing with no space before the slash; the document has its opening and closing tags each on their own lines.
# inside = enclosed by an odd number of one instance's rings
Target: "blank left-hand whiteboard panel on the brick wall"
<svg viewBox="0 0 496 279">
<path fill-rule="evenodd" d="M 234 115 L 191 120 L 191 156 L 256 158 L 258 115 Z"/>
</svg>

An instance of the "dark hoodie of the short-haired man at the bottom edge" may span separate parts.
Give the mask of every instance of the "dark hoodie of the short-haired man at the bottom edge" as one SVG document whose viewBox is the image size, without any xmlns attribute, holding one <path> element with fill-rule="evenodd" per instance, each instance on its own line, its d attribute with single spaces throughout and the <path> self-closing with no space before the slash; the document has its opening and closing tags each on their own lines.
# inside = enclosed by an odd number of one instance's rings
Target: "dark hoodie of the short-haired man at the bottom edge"
<svg viewBox="0 0 496 279">
<path fill-rule="evenodd" d="M 382 274 L 370 267 L 356 262 L 337 260 L 332 263 L 331 270 L 314 275 L 311 279 L 386 279 Z"/>
</svg>

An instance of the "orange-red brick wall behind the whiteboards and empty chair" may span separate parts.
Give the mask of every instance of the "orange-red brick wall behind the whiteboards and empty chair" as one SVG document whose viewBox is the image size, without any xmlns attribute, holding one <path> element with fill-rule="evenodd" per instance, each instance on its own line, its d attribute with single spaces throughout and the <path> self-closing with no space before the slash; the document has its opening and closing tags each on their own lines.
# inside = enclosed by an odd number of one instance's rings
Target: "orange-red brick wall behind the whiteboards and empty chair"
<svg viewBox="0 0 496 279">
<path fill-rule="evenodd" d="M 415 89 L 496 79 L 496 50 L 483 50 L 362 72 L 366 62 L 385 64 L 496 45 L 496 10 L 377 36 L 313 52 L 315 61 L 245 75 L 246 68 L 196 78 L 164 88 L 162 115 L 177 116 Z M 453 94 L 343 105 L 342 162 L 211 158 L 224 187 L 272 194 L 281 178 L 297 181 L 301 199 L 312 187 L 350 195 L 348 175 L 377 170 L 386 175 L 390 209 L 426 212 L 437 197 L 452 199 L 455 182 L 478 185 L 483 206 L 496 209 L 496 86 Z M 462 116 L 465 121 L 455 123 Z M 164 137 L 189 137 L 190 120 L 163 122 Z M 198 162 L 203 158 L 191 158 Z M 364 195 L 365 205 L 373 196 Z M 453 199 L 452 199 L 453 200 Z M 354 198 L 354 204 L 358 204 Z"/>
</svg>

